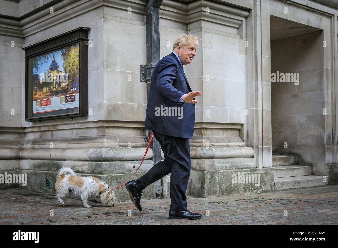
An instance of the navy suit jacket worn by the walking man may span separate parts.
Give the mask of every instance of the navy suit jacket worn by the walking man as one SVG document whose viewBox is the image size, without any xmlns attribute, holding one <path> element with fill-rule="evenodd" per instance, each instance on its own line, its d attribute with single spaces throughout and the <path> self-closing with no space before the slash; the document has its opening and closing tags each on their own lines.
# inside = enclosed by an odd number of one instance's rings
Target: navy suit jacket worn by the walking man
<svg viewBox="0 0 338 248">
<path fill-rule="evenodd" d="M 168 136 L 192 138 L 195 104 L 178 102 L 183 94 L 191 91 L 175 54 L 170 53 L 163 57 L 156 64 L 151 76 L 145 128 Z M 164 116 L 165 113 L 164 115 L 159 115 L 159 112 L 155 113 L 156 109 L 164 107 L 180 107 L 180 113 L 183 113 L 183 116 Z"/>
</svg>

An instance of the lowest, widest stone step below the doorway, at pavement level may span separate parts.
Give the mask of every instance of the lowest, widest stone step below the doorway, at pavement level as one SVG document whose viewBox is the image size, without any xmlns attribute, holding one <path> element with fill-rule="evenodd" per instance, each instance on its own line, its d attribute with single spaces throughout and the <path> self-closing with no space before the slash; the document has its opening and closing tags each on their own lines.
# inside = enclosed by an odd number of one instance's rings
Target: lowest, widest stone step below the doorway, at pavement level
<svg viewBox="0 0 338 248">
<path fill-rule="evenodd" d="M 289 176 L 279 177 L 274 179 L 275 190 L 294 189 L 313 187 L 319 185 L 327 185 L 329 177 L 326 177 L 326 182 L 323 182 L 323 176 L 308 175 L 308 176 Z"/>
</svg>

